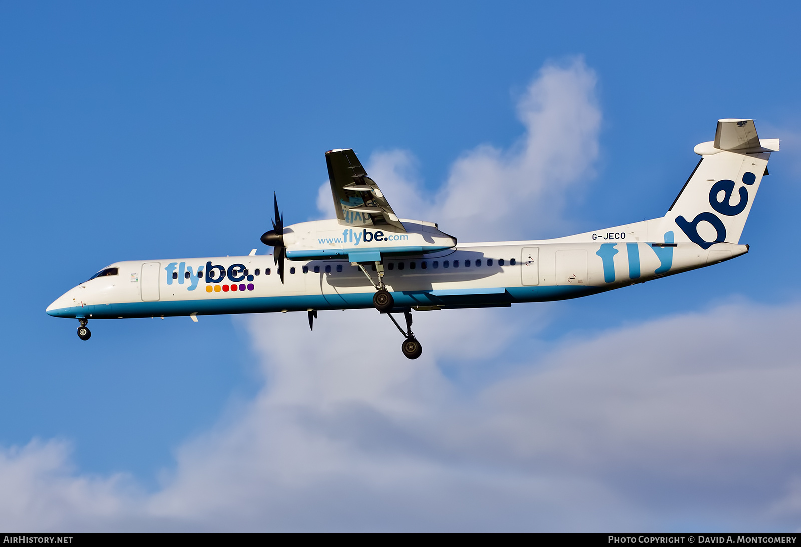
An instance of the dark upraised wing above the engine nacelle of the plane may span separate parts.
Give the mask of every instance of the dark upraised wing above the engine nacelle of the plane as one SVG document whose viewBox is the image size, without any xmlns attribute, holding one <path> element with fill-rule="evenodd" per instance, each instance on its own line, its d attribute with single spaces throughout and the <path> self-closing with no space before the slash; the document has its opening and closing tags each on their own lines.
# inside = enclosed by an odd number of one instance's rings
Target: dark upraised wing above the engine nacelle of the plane
<svg viewBox="0 0 801 547">
<path fill-rule="evenodd" d="M 334 197 L 334 210 L 345 226 L 384 226 L 393 232 L 405 232 L 395 211 L 353 150 L 329 150 L 325 153 L 328 178 Z"/>
</svg>

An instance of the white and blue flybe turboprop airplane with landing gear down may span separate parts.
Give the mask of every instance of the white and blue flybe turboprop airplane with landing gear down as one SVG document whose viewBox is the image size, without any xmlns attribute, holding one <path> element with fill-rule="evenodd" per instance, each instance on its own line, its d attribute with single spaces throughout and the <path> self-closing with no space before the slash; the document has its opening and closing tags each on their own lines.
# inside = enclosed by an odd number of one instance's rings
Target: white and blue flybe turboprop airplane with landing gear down
<svg viewBox="0 0 801 547">
<path fill-rule="evenodd" d="M 115 262 L 58 297 L 46 313 L 90 319 L 307 312 L 375 308 L 404 337 L 409 359 L 422 348 L 412 311 L 509 307 L 557 301 L 644 283 L 746 254 L 751 206 L 779 139 L 759 139 L 754 121 L 718 121 L 662 218 L 566 238 L 460 243 L 436 223 L 398 218 L 353 150 L 325 153 L 336 219 L 284 226 L 276 194 L 272 254 Z M 516 182 L 525 183 L 523 181 Z M 402 314 L 405 329 L 393 314 Z"/>
</svg>

